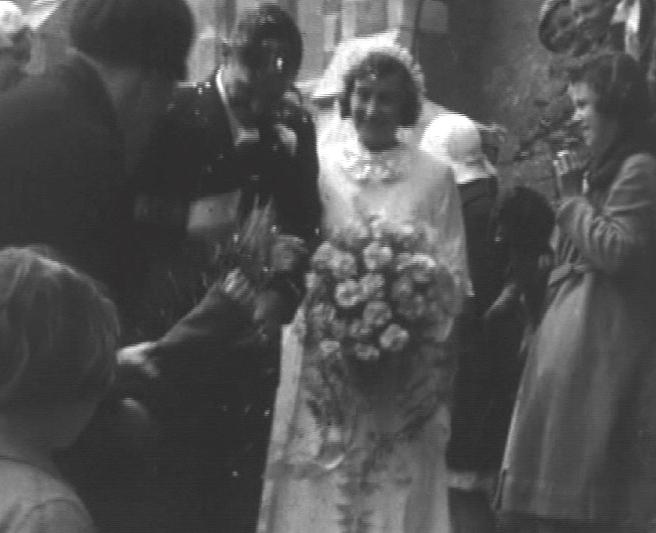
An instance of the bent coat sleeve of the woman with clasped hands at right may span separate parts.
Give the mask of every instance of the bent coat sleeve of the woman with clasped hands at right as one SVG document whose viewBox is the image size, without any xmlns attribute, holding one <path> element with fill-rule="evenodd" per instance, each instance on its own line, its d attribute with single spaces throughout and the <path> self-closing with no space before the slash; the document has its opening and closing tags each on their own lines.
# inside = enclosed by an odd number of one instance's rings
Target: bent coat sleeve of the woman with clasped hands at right
<svg viewBox="0 0 656 533">
<path fill-rule="evenodd" d="M 647 253 L 654 232 L 656 158 L 630 156 L 600 209 L 587 198 L 566 200 L 556 222 L 581 255 L 607 274 Z"/>
</svg>

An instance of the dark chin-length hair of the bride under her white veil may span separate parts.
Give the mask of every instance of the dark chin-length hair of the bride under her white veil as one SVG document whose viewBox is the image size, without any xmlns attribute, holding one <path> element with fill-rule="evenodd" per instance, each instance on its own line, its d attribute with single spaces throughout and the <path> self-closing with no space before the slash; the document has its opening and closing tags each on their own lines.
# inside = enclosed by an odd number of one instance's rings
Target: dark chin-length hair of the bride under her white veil
<svg viewBox="0 0 656 533">
<path fill-rule="evenodd" d="M 400 126 L 414 126 L 419 120 L 424 96 L 424 79 L 419 65 L 403 48 L 380 47 L 371 50 L 344 74 L 344 92 L 340 96 L 340 110 L 344 119 L 351 116 L 350 100 L 356 81 L 379 79 L 398 74 L 403 83 L 403 106 Z"/>
</svg>

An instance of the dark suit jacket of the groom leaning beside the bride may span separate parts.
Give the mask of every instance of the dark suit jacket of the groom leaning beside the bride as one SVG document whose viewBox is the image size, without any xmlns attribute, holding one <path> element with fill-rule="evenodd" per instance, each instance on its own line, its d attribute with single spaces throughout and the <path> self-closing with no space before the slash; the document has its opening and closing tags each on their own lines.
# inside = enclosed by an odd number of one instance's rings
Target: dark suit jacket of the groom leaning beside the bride
<svg viewBox="0 0 656 533">
<path fill-rule="evenodd" d="M 140 234 L 152 267 L 151 287 L 142 298 L 150 307 L 142 320 L 145 338 L 163 335 L 209 289 L 207 256 L 185 230 L 193 200 L 241 191 L 242 219 L 255 201 L 272 200 L 281 232 L 306 242 L 316 238 L 321 204 L 314 123 L 291 102 L 262 122 L 260 142 L 236 146 L 215 75 L 177 88 L 140 172 Z M 273 131 L 276 123 L 295 132 L 293 155 Z M 301 286 L 301 273 L 292 281 Z M 298 303 L 288 284 L 277 288 Z"/>
</svg>

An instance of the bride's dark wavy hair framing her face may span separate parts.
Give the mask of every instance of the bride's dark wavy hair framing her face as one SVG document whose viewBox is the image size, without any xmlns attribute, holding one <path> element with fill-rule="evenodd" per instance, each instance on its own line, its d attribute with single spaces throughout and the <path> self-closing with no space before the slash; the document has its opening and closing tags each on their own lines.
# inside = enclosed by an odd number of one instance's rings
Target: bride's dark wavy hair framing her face
<svg viewBox="0 0 656 533">
<path fill-rule="evenodd" d="M 421 95 L 413 73 L 400 58 L 382 50 L 367 54 L 344 76 L 344 93 L 339 100 L 342 117 L 346 119 L 351 116 L 351 96 L 357 81 L 392 75 L 400 75 L 403 84 L 400 126 L 410 127 L 417 124 L 421 112 Z"/>
</svg>

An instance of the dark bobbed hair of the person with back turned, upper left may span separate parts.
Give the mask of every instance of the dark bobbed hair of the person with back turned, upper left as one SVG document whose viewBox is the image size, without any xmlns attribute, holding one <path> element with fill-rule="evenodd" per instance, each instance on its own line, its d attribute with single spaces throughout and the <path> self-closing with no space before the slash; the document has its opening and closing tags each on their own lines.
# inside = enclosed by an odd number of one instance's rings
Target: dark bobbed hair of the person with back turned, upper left
<svg viewBox="0 0 656 533">
<path fill-rule="evenodd" d="M 185 0 L 78 0 L 70 31 L 92 58 L 186 77 L 194 20 Z"/>
</svg>

